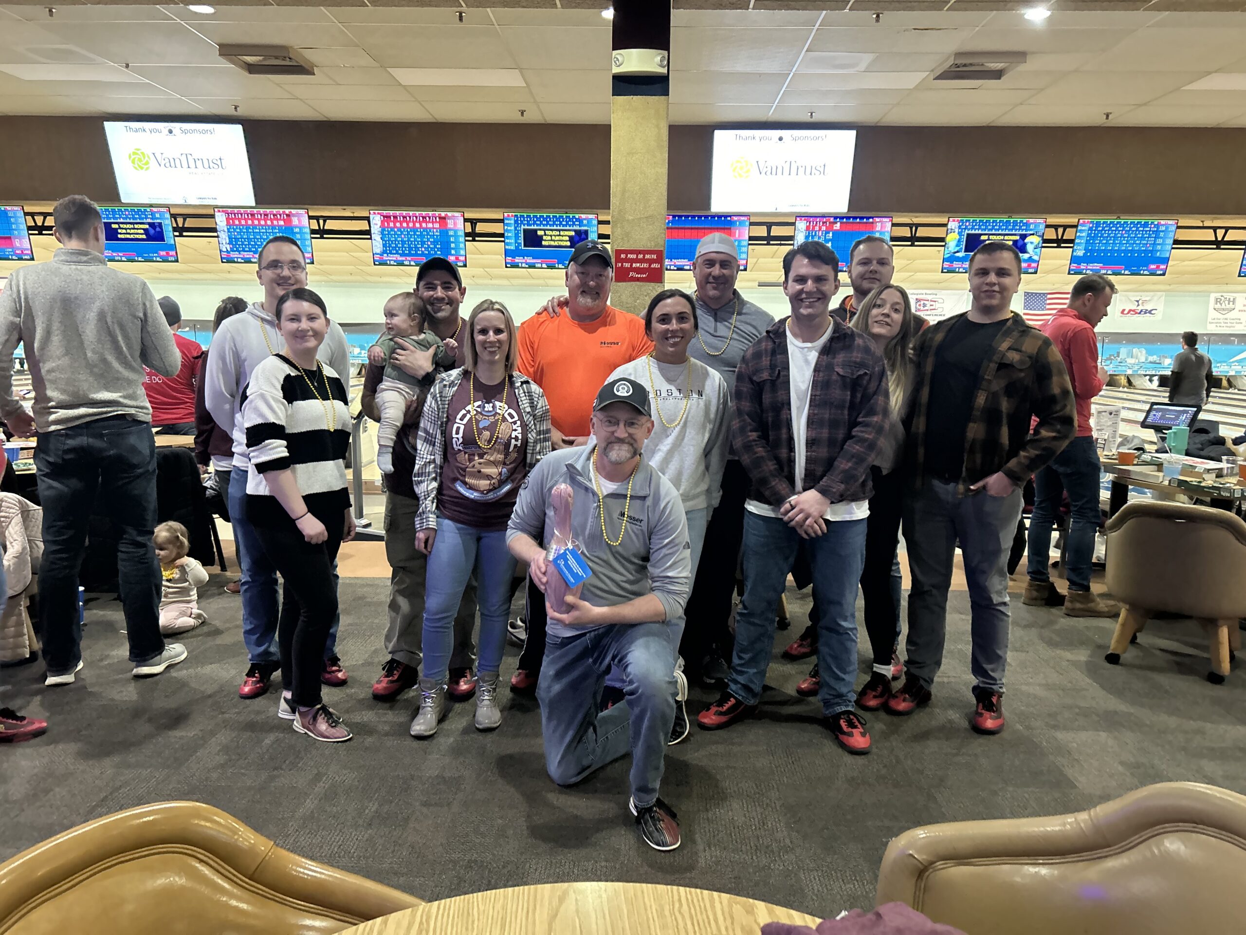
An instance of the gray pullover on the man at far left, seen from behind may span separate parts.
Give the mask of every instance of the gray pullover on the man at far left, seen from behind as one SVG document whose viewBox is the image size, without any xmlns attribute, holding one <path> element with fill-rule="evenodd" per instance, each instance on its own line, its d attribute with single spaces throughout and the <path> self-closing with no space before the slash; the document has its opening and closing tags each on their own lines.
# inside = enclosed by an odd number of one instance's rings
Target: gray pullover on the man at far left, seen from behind
<svg viewBox="0 0 1246 935">
<path fill-rule="evenodd" d="M 147 283 L 93 251 L 61 247 L 15 269 L 0 293 L 0 415 L 14 415 L 12 353 L 24 342 L 40 431 L 123 415 L 151 421 L 143 367 L 173 376 L 182 355 Z"/>
</svg>

